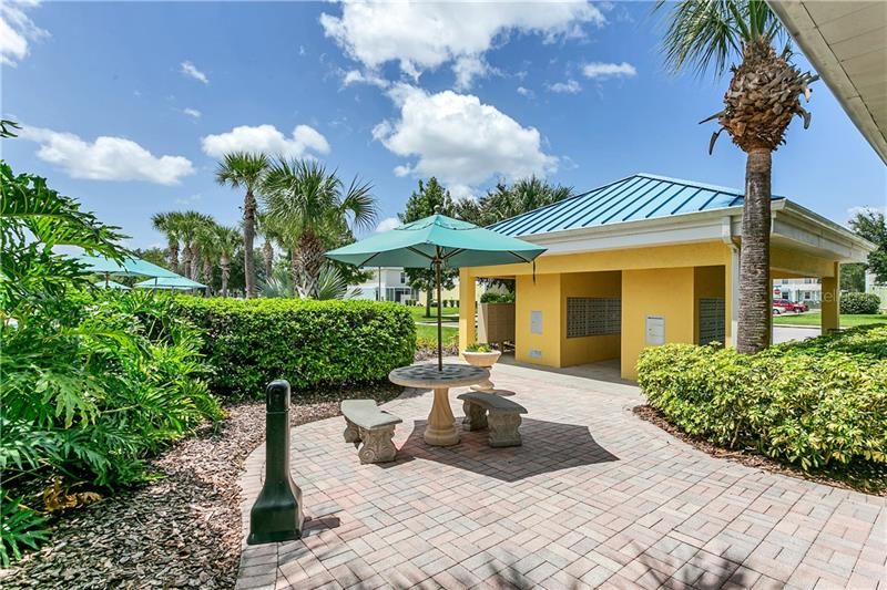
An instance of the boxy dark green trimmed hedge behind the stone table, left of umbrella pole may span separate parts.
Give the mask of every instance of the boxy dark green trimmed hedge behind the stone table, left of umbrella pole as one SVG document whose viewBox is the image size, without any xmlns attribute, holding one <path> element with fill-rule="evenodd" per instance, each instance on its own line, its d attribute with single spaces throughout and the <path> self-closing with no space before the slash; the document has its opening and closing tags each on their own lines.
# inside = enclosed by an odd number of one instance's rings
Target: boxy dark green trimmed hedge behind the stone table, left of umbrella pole
<svg viewBox="0 0 887 590">
<path fill-rule="evenodd" d="M 182 297 L 180 308 L 206 331 L 222 395 L 261 397 L 275 379 L 295 390 L 378 381 L 416 351 L 412 317 L 396 303 Z"/>
</svg>

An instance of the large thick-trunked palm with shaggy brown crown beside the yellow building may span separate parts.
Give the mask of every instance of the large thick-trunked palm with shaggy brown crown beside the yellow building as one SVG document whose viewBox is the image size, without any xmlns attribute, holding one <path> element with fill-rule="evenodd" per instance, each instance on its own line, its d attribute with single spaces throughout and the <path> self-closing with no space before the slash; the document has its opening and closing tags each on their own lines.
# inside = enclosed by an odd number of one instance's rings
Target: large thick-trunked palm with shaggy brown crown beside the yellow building
<svg viewBox="0 0 887 590">
<path fill-rule="evenodd" d="M 665 6 L 660 0 L 656 8 Z M 669 66 L 677 72 L 693 66 L 708 69 L 720 77 L 732 73 L 724 95 L 724 110 L 703 123 L 717 120 L 711 153 L 722 131 L 746 154 L 745 201 L 740 250 L 740 309 L 736 350 L 757 352 L 769 344 L 769 231 L 772 154 L 785 143 L 792 117 L 809 125 L 810 115 L 799 96 L 809 100 L 809 84 L 818 76 L 801 73 L 789 59 L 778 19 L 764 0 L 681 0 L 669 12 L 665 52 Z M 738 65 L 727 68 L 732 60 Z"/>
</svg>

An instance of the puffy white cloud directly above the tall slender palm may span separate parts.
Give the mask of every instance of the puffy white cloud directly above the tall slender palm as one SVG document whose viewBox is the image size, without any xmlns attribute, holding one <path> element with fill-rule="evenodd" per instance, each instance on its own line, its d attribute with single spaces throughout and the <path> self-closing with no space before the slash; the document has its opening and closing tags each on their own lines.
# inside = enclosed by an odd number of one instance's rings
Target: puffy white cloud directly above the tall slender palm
<svg viewBox="0 0 887 590">
<path fill-rule="evenodd" d="M 329 153 L 326 137 L 308 125 L 296 125 L 292 137 L 286 137 L 274 125 L 241 125 L 226 133 L 207 135 L 201 139 L 201 145 L 206 155 L 216 158 L 230 152 L 263 152 L 287 157 L 302 157 L 307 152 Z"/>
</svg>

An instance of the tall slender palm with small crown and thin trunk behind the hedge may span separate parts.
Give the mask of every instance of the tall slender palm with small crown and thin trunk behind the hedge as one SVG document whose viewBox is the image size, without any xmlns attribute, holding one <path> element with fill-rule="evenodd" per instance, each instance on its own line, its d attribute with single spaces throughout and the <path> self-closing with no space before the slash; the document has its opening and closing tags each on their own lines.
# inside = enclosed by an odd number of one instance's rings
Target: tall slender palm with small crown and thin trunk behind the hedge
<svg viewBox="0 0 887 590">
<path fill-rule="evenodd" d="M 262 177 L 268 166 L 265 154 L 233 152 L 225 154 L 216 168 L 215 179 L 232 188 L 245 188 L 243 198 L 243 270 L 246 281 L 246 298 L 256 296 L 256 269 L 253 263 L 253 241 L 256 235 L 256 197 Z"/>
</svg>

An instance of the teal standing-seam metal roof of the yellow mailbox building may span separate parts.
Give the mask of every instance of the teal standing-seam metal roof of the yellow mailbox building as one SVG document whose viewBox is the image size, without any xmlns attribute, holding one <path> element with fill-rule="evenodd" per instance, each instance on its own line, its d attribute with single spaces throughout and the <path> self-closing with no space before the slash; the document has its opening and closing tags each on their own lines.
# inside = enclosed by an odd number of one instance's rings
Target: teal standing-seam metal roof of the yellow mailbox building
<svg viewBox="0 0 887 590">
<path fill-rule="evenodd" d="M 773 196 L 773 200 L 785 197 Z M 499 221 L 489 229 L 506 236 L 609 226 L 743 204 L 743 192 L 692 180 L 635 174 L 588 193 Z"/>
</svg>

